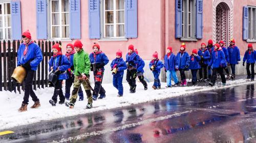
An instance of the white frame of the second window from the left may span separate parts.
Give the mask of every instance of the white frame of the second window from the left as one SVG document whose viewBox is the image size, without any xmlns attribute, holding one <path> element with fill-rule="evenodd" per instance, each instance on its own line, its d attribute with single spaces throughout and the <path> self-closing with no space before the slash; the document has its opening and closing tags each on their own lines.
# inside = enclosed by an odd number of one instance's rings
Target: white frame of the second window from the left
<svg viewBox="0 0 256 143">
<path fill-rule="evenodd" d="M 52 1 L 58 1 L 59 2 L 59 11 L 58 12 L 52 12 Z M 70 4 L 69 4 L 70 5 Z M 52 14 L 54 13 L 58 13 L 59 14 L 59 24 L 58 25 L 54 25 L 54 26 L 58 26 L 59 27 L 59 37 L 53 37 L 52 35 L 52 29 L 53 29 L 53 25 L 52 25 Z M 51 39 L 53 40 L 59 40 L 59 39 L 70 39 L 70 37 L 66 37 L 66 38 L 62 38 L 62 26 L 69 26 L 69 33 L 70 33 L 70 19 L 69 19 L 69 24 L 65 24 L 62 25 L 62 13 L 69 13 L 70 14 L 70 10 L 69 12 L 62 12 L 61 11 L 61 0 L 50 0 L 50 33 L 51 33 Z"/>
</svg>

